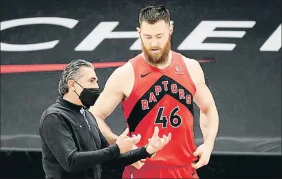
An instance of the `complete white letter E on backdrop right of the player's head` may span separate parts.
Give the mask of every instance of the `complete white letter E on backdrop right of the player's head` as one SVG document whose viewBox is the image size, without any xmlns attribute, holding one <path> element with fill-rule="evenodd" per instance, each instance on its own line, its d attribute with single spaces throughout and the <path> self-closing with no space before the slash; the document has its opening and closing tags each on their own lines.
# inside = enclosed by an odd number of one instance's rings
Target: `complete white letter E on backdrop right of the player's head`
<svg viewBox="0 0 282 179">
<path fill-rule="evenodd" d="M 177 48 L 178 50 L 232 51 L 232 43 L 203 43 L 208 37 L 242 38 L 245 31 L 215 31 L 217 27 L 252 28 L 255 21 L 202 21 Z"/>
</svg>

